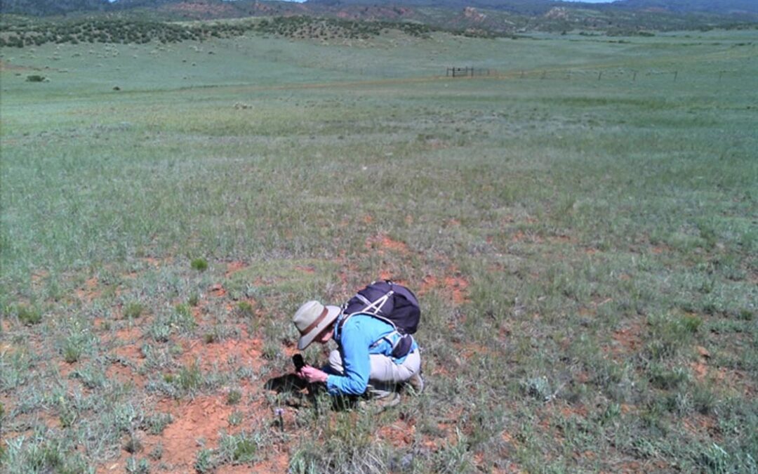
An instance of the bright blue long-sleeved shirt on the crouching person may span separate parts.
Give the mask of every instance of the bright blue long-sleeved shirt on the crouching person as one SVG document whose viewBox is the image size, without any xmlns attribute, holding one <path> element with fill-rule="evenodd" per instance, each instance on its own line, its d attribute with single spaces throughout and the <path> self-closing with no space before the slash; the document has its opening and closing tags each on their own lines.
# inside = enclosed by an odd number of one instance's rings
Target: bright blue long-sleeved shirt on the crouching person
<svg viewBox="0 0 758 474">
<path fill-rule="evenodd" d="M 339 325 L 340 320 L 337 320 Z M 327 377 L 327 391 L 331 395 L 360 395 L 366 391 L 368 375 L 371 374 L 371 359 L 369 354 L 384 354 L 392 357 L 392 344 L 386 340 L 379 341 L 388 336 L 396 341 L 398 334 L 393 334 L 392 325 L 372 317 L 371 315 L 352 315 L 345 322 L 341 331 L 334 329 L 334 341 L 342 356 L 344 375 L 329 375 Z M 371 347 L 379 341 L 374 347 Z M 418 348 L 413 341 L 411 350 Z M 402 363 L 405 357 L 395 359 L 396 363 Z"/>
</svg>

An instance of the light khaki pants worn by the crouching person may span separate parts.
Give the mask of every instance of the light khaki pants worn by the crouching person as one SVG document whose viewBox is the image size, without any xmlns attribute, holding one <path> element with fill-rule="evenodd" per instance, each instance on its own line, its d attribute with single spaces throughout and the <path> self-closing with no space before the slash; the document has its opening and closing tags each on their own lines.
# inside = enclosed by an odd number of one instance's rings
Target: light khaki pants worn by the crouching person
<svg viewBox="0 0 758 474">
<path fill-rule="evenodd" d="M 368 375 L 368 393 L 374 397 L 384 397 L 395 390 L 395 386 L 407 381 L 421 371 L 421 354 L 418 349 L 406 356 L 402 364 L 397 364 L 391 357 L 384 354 L 370 354 L 371 373 Z M 328 372 L 345 375 L 342 366 L 342 356 L 339 350 L 329 353 Z"/>
</svg>

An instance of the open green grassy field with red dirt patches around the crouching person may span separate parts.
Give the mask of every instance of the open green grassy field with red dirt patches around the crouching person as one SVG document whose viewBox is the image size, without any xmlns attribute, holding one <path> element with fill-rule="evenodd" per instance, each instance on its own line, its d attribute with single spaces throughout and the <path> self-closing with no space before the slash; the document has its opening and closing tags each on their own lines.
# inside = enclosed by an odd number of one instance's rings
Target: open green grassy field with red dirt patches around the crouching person
<svg viewBox="0 0 758 474">
<path fill-rule="evenodd" d="M 754 31 L 0 52 L 0 470 L 758 472 Z M 378 277 L 424 394 L 266 390 Z"/>
</svg>

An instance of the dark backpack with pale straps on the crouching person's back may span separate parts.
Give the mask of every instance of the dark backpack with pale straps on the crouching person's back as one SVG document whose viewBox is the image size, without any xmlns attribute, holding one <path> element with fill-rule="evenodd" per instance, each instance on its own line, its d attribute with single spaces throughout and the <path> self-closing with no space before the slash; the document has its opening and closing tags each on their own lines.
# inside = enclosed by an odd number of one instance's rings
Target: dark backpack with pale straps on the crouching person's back
<svg viewBox="0 0 758 474">
<path fill-rule="evenodd" d="M 341 332 L 345 322 L 356 314 L 368 314 L 392 325 L 400 334 L 393 345 L 392 356 L 408 355 L 413 344 L 411 334 L 415 334 L 421 319 L 421 308 L 411 290 L 390 280 L 372 282 L 343 304 L 338 331 Z M 390 340 L 387 338 L 387 341 Z"/>
</svg>

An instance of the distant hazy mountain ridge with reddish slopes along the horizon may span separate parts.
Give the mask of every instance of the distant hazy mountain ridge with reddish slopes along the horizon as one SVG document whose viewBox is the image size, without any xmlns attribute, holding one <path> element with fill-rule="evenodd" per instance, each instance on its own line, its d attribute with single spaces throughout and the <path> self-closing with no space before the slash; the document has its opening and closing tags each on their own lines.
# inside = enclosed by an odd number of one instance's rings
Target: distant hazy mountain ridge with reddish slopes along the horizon
<svg viewBox="0 0 758 474">
<path fill-rule="evenodd" d="M 758 22 L 758 0 L 618 0 L 597 4 L 557 0 L 0 0 L 3 14 L 33 16 L 139 12 L 148 17 L 211 20 L 255 16 L 318 16 L 414 21 L 443 29 L 674 30 Z"/>
</svg>

